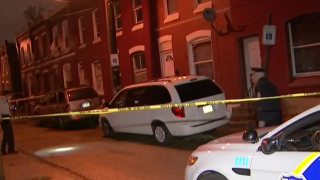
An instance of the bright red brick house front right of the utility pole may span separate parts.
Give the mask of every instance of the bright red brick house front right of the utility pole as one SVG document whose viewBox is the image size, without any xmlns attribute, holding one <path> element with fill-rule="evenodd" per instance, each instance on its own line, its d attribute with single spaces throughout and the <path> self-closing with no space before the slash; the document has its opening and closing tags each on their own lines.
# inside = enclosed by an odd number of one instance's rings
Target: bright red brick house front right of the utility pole
<svg viewBox="0 0 320 180">
<path fill-rule="evenodd" d="M 280 94 L 320 90 L 319 1 L 115 2 L 123 85 L 177 72 L 200 74 L 215 80 L 228 99 L 244 98 L 251 67 L 265 67 L 269 57 L 268 78 Z M 213 27 L 202 15 L 208 7 L 216 13 Z M 262 42 L 269 14 L 276 36 L 267 51 Z"/>
</svg>

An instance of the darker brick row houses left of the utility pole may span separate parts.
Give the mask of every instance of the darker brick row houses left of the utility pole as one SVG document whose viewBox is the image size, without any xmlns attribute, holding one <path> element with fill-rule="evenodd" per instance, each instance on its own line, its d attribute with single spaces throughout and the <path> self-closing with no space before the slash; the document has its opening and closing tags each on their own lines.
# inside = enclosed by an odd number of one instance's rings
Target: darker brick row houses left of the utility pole
<svg viewBox="0 0 320 180">
<path fill-rule="evenodd" d="M 70 1 L 16 34 L 25 96 L 85 84 L 102 97 L 108 94 L 111 84 L 102 80 L 110 75 L 102 71 L 109 61 L 101 7 L 98 0 Z"/>
</svg>

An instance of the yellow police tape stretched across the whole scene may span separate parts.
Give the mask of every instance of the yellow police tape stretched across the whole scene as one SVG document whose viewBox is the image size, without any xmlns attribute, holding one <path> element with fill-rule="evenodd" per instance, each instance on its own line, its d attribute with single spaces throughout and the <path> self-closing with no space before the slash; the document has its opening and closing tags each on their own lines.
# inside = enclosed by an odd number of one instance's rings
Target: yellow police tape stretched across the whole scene
<svg viewBox="0 0 320 180">
<path fill-rule="evenodd" d="M 202 101 L 202 102 L 192 102 L 192 103 L 179 103 L 179 104 L 164 104 L 164 105 L 151 105 L 151 106 L 138 106 L 138 107 L 128 107 L 128 108 L 113 108 L 113 109 L 99 109 L 99 110 L 89 110 L 89 111 L 77 111 L 77 112 L 67 112 L 67 113 L 54 113 L 46 115 L 34 115 L 34 116 L 13 116 L 2 118 L 3 120 L 13 120 L 13 119 L 26 119 L 26 118 L 36 118 L 36 117 L 52 117 L 52 116 L 69 116 L 69 115 L 97 115 L 97 114 L 108 114 L 122 111 L 137 111 L 137 110 L 150 110 L 150 109 L 162 109 L 171 108 L 178 106 L 203 106 L 212 104 L 226 104 L 226 103 L 238 103 L 238 102 L 249 102 L 249 101 L 261 101 L 268 99 L 282 99 L 282 98 L 292 98 L 292 97 L 306 97 L 306 96 L 317 96 L 320 92 L 312 93 L 297 93 L 288 94 L 273 97 L 261 97 L 261 98 L 245 98 L 245 99 L 230 99 L 230 100 L 217 100 L 217 101 Z"/>
</svg>

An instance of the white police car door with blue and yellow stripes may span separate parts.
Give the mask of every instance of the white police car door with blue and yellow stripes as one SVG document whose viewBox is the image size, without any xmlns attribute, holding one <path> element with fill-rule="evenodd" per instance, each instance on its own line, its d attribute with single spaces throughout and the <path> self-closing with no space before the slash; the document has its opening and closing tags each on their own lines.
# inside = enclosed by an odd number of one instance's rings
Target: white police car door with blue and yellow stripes
<svg viewBox="0 0 320 180">
<path fill-rule="evenodd" d="M 275 152 L 266 155 L 257 151 L 251 162 L 252 180 L 319 179 L 320 153 L 302 151 Z"/>
</svg>

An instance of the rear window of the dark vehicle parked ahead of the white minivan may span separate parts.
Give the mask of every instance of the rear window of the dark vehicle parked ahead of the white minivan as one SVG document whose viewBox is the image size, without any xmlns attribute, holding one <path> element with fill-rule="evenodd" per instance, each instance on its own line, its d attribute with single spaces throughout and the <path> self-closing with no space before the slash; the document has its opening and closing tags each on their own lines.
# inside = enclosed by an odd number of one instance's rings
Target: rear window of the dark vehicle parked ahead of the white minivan
<svg viewBox="0 0 320 180">
<path fill-rule="evenodd" d="M 98 97 L 98 93 L 91 87 L 75 89 L 68 91 L 69 101 L 78 101 L 81 99 L 90 99 Z"/>
</svg>

